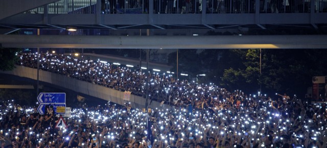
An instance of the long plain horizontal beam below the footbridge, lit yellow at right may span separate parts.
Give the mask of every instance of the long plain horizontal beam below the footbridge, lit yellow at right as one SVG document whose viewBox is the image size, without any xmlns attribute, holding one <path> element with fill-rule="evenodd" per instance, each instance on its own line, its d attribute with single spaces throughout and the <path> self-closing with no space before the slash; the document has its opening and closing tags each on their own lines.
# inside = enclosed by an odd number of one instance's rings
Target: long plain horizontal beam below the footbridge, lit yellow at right
<svg viewBox="0 0 327 148">
<path fill-rule="evenodd" d="M 0 35 L 3 47 L 30 48 L 327 48 L 327 35 L 59 36 Z"/>
</svg>

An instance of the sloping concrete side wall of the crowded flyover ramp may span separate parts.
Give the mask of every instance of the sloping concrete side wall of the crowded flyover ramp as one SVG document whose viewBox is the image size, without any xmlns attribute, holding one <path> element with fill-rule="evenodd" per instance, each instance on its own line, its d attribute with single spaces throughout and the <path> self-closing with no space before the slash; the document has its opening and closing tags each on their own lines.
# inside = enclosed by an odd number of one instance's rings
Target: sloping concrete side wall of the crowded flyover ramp
<svg viewBox="0 0 327 148">
<path fill-rule="evenodd" d="M 16 66 L 16 68 L 12 71 L 0 71 L 0 73 L 14 75 L 26 79 L 37 80 L 37 69 L 24 67 L 24 66 Z M 110 101 L 120 105 L 124 105 L 124 103 L 129 102 L 123 100 L 124 92 L 122 91 L 88 83 L 74 78 L 69 78 L 64 75 L 59 75 L 57 73 L 52 73 L 49 71 L 39 70 L 39 81 L 56 85 L 58 87 L 61 87 L 62 89 L 69 89 L 77 93 L 101 98 L 102 100 Z M 133 108 L 145 108 L 145 102 L 146 102 L 146 98 L 144 97 L 130 95 L 130 103 Z M 151 101 L 149 100 L 149 108 L 159 108 L 160 106 L 159 102 L 152 101 L 151 104 L 150 102 Z M 164 104 L 163 107 L 169 107 L 169 106 Z"/>
</svg>

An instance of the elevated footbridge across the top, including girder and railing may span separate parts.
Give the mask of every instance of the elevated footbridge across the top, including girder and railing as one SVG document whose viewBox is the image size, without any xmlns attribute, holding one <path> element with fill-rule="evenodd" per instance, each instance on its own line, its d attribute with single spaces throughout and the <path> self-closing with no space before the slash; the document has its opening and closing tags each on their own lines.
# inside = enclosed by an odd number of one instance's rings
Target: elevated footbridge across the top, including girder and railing
<svg viewBox="0 0 327 148">
<path fill-rule="evenodd" d="M 275 8 L 278 11 L 271 10 L 272 4 L 263 6 L 259 0 L 225 0 L 222 11 L 219 10 L 221 7 L 218 7 L 216 1 L 201 0 L 201 4 L 192 4 L 192 11 L 188 13 L 184 12 L 186 6 L 184 1 L 176 1 L 177 6 L 181 7 L 177 7 L 173 12 L 167 10 L 165 0 L 156 1 L 159 2 L 159 6 L 154 1 L 142 1 L 144 4 L 137 8 L 127 3 L 136 2 L 130 0 L 125 1 L 127 4 L 116 4 L 117 1 L 113 0 L 107 0 L 106 3 L 101 0 L 57 1 L 0 0 L 0 29 L 66 29 L 72 26 L 91 30 L 216 30 L 239 27 L 241 30 L 287 27 L 324 29 L 327 23 L 327 2 L 324 0 L 303 1 L 287 7 L 283 7 L 282 4 L 273 5 L 278 6 Z M 36 8 L 37 6 L 40 7 Z M 131 9 L 138 9 L 141 6 L 142 10 L 137 11 L 137 14 L 130 12 Z"/>
</svg>

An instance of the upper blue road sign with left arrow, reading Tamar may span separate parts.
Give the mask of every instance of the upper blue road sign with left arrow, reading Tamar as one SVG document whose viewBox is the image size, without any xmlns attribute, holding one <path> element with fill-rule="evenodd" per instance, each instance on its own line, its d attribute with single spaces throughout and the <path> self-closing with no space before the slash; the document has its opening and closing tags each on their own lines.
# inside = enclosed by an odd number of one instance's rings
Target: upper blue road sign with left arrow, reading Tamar
<svg viewBox="0 0 327 148">
<path fill-rule="evenodd" d="M 66 93 L 40 93 L 37 100 L 40 104 L 65 104 Z"/>
</svg>

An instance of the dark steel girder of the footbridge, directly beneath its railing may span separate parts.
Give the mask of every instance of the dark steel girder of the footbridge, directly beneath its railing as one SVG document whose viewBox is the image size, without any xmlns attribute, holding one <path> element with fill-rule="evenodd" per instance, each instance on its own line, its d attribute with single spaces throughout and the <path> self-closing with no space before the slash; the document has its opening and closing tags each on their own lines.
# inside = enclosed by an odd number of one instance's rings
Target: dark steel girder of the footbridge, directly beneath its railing
<svg viewBox="0 0 327 148">
<path fill-rule="evenodd" d="M 0 0 L 1 1 L 1 0 Z M 240 14 L 153 14 L 152 23 L 149 23 L 149 14 L 101 14 L 100 24 L 111 25 L 198 25 L 215 24 L 240 25 L 240 24 L 315 24 L 327 23 L 325 13 L 260 13 L 259 15 L 251 13 Z M 219 19 L 217 19 L 219 18 Z M 313 18 L 314 20 L 311 20 Z M 97 22 L 95 14 L 48 14 L 48 24 L 52 25 L 94 25 Z M 103 20 L 102 20 L 103 19 Z M 203 19 L 203 23 L 202 23 Z M 115 20 L 115 21 L 112 21 Z M 16 24 L 46 24 L 43 21 L 43 14 L 17 14 L 0 20 L 3 25 Z M 207 27 L 205 27 L 207 28 Z"/>
</svg>

